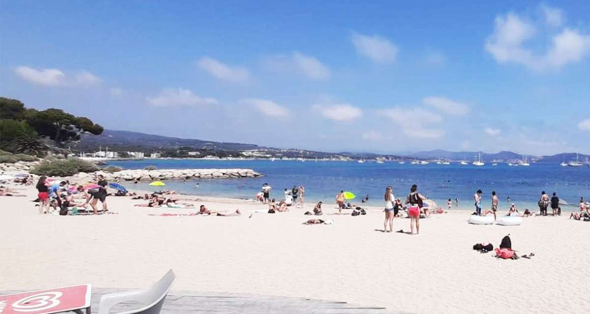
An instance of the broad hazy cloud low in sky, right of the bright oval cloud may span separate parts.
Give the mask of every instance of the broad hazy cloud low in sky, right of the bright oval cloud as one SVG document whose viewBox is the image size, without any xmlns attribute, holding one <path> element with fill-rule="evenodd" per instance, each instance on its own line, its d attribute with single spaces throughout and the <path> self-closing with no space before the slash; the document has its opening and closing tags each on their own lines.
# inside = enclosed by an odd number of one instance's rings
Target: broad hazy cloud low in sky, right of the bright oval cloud
<svg viewBox="0 0 590 314">
<path fill-rule="evenodd" d="M 394 120 L 402 132 L 411 138 L 437 139 L 445 133 L 438 127 L 442 117 L 428 110 L 393 107 L 383 110 L 382 113 Z"/>
</svg>

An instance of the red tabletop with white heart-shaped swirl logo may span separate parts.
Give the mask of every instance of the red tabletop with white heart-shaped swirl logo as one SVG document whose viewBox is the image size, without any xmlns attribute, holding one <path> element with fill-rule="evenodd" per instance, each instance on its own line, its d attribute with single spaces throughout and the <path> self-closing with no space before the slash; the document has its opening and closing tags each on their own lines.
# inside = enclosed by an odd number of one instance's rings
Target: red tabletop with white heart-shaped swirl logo
<svg viewBox="0 0 590 314">
<path fill-rule="evenodd" d="M 0 314 L 50 314 L 90 306 L 90 284 L 0 296 Z"/>
</svg>

